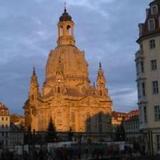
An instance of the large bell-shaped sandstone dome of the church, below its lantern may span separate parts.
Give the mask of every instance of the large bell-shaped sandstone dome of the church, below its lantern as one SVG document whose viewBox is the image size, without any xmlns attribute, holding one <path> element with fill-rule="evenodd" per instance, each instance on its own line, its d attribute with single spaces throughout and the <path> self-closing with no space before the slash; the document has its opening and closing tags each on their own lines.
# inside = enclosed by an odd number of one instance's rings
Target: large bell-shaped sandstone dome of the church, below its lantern
<svg viewBox="0 0 160 160">
<path fill-rule="evenodd" d="M 46 65 L 46 81 L 55 83 L 57 73 L 63 73 L 67 85 L 88 81 L 88 64 L 84 52 L 75 46 L 59 46 L 50 52 Z M 73 84 L 73 83 L 72 83 Z"/>
</svg>

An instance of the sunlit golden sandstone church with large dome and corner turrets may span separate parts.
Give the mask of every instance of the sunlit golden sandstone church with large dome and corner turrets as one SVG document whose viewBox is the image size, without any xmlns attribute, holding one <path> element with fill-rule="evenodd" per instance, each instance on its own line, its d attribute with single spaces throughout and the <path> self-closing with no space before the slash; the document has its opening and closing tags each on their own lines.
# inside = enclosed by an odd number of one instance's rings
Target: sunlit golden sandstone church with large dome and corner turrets
<svg viewBox="0 0 160 160">
<path fill-rule="evenodd" d="M 25 126 L 47 131 L 52 121 L 58 132 L 108 132 L 112 100 L 102 65 L 97 67 L 96 83 L 91 84 L 85 53 L 75 44 L 74 21 L 66 8 L 57 27 L 57 46 L 49 53 L 41 89 L 33 69 L 24 104 Z"/>
</svg>

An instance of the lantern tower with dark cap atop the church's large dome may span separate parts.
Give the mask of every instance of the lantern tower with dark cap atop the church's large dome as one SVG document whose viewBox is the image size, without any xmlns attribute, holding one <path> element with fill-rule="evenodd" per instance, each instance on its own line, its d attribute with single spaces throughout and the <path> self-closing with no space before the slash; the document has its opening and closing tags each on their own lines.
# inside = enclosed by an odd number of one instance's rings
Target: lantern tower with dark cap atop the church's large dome
<svg viewBox="0 0 160 160">
<path fill-rule="evenodd" d="M 66 7 L 58 22 L 58 40 L 57 45 L 75 45 L 74 22 L 68 14 Z"/>
</svg>

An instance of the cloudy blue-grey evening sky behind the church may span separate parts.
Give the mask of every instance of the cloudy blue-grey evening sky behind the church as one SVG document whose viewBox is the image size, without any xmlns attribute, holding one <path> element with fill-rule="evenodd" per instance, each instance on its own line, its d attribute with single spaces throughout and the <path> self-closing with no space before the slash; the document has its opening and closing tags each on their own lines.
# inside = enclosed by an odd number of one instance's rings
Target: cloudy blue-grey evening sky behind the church
<svg viewBox="0 0 160 160">
<path fill-rule="evenodd" d="M 90 79 L 102 62 L 114 110 L 137 107 L 134 54 L 138 23 L 150 0 L 67 0 L 76 44 L 86 53 Z M 33 65 L 44 81 L 48 53 L 56 46 L 64 0 L 0 0 L 0 101 L 23 113 Z"/>
</svg>

